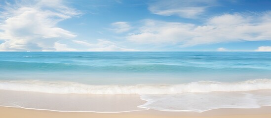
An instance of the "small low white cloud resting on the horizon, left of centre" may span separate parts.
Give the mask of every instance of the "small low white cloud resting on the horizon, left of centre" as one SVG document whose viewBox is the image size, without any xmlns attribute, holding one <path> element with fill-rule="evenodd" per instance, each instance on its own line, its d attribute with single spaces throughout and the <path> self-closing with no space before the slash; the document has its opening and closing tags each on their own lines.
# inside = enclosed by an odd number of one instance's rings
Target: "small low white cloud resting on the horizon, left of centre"
<svg viewBox="0 0 271 118">
<path fill-rule="evenodd" d="M 86 46 L 83 51 L 138 51 L 116 46 L 114 42 L 103 39 L 98 39 L 95 43 L 79 40 L 73 40 L 73 42 L 82 46 Z"/>
</svg>

